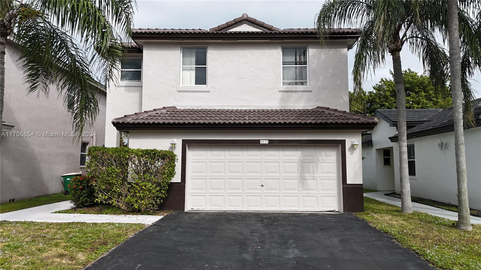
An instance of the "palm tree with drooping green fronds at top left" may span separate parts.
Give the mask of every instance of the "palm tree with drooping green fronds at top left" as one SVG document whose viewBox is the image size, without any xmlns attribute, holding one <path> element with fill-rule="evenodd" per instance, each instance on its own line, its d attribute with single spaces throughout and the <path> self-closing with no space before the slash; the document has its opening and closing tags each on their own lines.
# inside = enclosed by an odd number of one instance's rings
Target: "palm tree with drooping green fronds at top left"
<svg viewBox="0 0 481 270">
<path fill-rule="evenodd" d="M 28 93 L 48 95 L 55 86 L 65 106 L 72 105 L 67 94 L 73 94 L 72 125 L 81 134 L 99 112 L 94 78 L 108 84 L 118 70 L 134 6 L 135 0 L 1 0 L 0 123 L 11 38 L 20 48 Z"/>
</svg>

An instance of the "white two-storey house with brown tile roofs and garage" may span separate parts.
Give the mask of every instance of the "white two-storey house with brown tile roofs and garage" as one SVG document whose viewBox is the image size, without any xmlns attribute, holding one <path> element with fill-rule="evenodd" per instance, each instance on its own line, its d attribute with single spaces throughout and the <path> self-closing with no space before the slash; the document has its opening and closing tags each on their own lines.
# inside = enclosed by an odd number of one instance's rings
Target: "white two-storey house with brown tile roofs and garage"
<svg viewBox="0 0 481 270">
<path fill-rule="evenodd" d="M 129 147 L 177 154 L 168 209 L 363 210 L 352 143 L 378 122 L 346 112 L 358 37 L 333 29 L 321 45 L 316 29 L 247 14 L 210 30 L 133 29 L 107 98 L 105 145 L 125 131 Z"/>
</svg>

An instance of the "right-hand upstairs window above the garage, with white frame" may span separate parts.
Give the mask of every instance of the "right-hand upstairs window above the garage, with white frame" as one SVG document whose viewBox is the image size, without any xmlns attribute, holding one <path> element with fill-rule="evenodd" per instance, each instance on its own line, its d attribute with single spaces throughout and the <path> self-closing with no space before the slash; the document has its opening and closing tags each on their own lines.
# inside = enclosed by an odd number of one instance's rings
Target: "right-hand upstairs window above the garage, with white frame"
<svg viewBox="0 0 481 270">
<path fill-rule="evenodd" d="M 282 86 L 307 86 L 306 47 L 282 47 Z"/>
</svg>

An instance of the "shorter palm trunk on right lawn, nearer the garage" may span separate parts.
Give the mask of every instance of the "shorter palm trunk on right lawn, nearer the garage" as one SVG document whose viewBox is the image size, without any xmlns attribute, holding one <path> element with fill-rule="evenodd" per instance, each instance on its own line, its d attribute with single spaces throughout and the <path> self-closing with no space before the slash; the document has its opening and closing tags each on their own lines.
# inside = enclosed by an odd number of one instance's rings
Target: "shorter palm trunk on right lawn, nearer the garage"
<svg viewBox="0 0 481 270">
<path fill-rule="evenodd" d="M 407 169 L 406 99 L 400 51 L 392 51 L 392 70 L 396 84 L 397 136 L 399 146 L 399 180 L 401 184 L 401 212 L 412 213 L 411 187 Z"/>
</svg>

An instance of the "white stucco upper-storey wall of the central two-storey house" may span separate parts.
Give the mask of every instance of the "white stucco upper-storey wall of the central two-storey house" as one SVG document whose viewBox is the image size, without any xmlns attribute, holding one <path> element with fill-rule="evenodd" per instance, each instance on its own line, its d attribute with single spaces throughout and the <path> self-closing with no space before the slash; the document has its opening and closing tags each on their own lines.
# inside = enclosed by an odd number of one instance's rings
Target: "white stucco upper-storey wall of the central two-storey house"
<svg viewBox="0 0 481 270">
<path fill-rule="evenodd" d="M 318 41 L 144 41 L 143 44 L 142 82 L 118 82 L 109 89 L 106 146 L 112 147 L 118 142 L 117 131 L 110 123 L 112 119 L 164 106 L 326 106 L 349 110 L 346 40 L 330 41 L 325 46 L 321 46 Z M 309 48 L 309 86 L 281 86 L 282 46 Z M 207 47 L 207 86 L 181 86 L 182 47 Z"/>
</svg>

